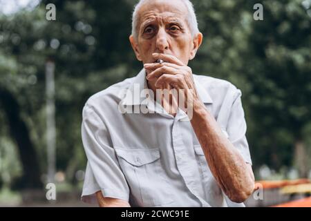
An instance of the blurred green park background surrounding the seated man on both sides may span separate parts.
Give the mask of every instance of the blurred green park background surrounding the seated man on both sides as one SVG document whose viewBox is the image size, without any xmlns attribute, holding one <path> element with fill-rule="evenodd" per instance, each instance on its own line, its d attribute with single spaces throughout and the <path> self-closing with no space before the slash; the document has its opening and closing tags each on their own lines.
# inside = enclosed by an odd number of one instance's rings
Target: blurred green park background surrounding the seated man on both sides
<svg viewBox="0 0 311 221">
<path fill-rule="evenodd" d="M 311 1 L 192 2 L 204 40 L 189 66 L 242 90 L 256 180 L 310 179 Z M 46 19 L 48 3 L 56 21 Z M 129 43 L 135 3 L 0 0 L 0 206 L 87 206 L 79 202 L 82 108 L 142 68 Z M 263 5 L 263 21 L 253 18 L 255 3 Z M 46 94 L 48 64 L 55 66 L 53 97 Z M 45 198 L 51 165 L 53 202 Z"/>
</svg>

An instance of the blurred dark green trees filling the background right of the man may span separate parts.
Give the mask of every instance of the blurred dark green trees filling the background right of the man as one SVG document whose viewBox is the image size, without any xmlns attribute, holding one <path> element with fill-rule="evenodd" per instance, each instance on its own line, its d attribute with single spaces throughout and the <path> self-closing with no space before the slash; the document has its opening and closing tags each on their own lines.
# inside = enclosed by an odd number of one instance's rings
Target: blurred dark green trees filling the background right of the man
<svg viewBox="0 0 311 221">
<path fill-rule="evenodd" d="M 296 166 L 308 175 L 304 134 L 310 125 L 310 1 L 194 1 L 206 36 L 195 70 L 243 91 L 255 168 Z M 263 4 L 263 21 L 253 6 Z M 309 157 L 310 158 L 310 157 Z"/>
</svg>

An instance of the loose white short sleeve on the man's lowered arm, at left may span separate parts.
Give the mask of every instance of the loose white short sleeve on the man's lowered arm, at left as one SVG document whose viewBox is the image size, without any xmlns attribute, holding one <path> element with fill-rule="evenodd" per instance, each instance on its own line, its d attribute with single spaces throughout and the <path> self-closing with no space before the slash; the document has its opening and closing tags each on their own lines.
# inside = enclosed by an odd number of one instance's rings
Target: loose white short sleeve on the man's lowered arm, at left
<svg viewBox="0 0 311 221">
<path fill-rule="evenodd" d="M 88 164 L 82 191 L 82 201 L 96 203 L 95 193 L 129 202 L 129 186 L 111 147 L 106 124 L 95 110 L 86 104 L 83 109 L 82 142 Z"/>
</svg>

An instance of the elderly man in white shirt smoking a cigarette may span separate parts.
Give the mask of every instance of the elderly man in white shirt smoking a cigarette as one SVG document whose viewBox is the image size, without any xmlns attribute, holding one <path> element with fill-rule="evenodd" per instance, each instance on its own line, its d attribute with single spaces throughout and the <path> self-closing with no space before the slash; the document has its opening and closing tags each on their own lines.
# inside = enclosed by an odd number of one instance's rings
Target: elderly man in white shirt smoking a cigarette
<svg viewBox="0 0 311 221">
<path fill-rule="evenodd" d="M 84 106 L 82 200 L 100 206 L 241 206 L 254 191 L 241 90 L 194 75 L 187 66 L 202 43 L 191 2 L 141 0 L 129 39 L 144 68 Z M 178 96 L 185 105 L 180 99 L 173 105 L 172 96 L 158 102 L 144 89 L 155 95 L 159 89 L 183 91 Z"/>
</svg>

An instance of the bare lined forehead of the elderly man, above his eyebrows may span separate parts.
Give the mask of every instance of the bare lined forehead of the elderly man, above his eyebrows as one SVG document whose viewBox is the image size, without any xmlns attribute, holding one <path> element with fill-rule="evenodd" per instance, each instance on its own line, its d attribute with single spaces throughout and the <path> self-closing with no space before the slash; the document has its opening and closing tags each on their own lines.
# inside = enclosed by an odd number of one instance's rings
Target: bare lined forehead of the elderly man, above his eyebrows
<svg viewBox="0 0 311 221">
<path fill-rule="evenodd" d="M 140 24 L 157 17 L 176 18 L 180 21 L 185 21 L 187 12 L 187 7 L 180 0 L 149 0 L 141 6 L 138 11 L 138 17 L 140 18 Z"/>
</svg>

